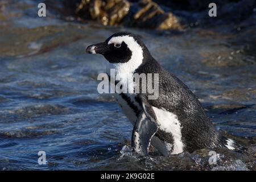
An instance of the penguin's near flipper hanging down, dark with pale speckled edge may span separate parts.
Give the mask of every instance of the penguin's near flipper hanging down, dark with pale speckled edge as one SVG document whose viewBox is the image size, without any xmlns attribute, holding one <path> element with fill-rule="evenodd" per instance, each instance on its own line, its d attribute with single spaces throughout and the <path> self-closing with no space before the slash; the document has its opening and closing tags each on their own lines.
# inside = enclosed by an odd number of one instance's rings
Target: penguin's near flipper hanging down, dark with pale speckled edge
<svg viewBox="0 0 256 182">
<path fill-rule="evenodd" d="M 151 138 L 155 135 L 156 131 L 158 131 L 158 125 L 156 124 L 156 116 L 152 107 L 142 97 L 139 98 L 141 98 L 143 111 L 141 111 L 135 122 L 131 146 L 133 147 L 133 151 L 146 156 L 148 154 Z"/>
</svg>

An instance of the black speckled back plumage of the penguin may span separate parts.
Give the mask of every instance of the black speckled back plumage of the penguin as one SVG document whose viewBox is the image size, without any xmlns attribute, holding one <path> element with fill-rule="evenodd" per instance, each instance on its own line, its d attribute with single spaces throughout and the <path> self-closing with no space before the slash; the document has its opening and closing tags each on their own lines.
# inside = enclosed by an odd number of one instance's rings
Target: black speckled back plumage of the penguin
<svg viewBox="0 0 256 182">
<path fill-rule="evenodd" d="M 166 71 L 143 47 L 143 64 L 135 73 L 158 73 L 159 74 L 159 97 L 148 102 L 159 109 L 165 109 L 177 115 L 181 124 L 184 150 L 192 152 L 199 148 L 222 147 L 221 137 L 210 122 L 207 114 L 195 94 L 187 85 L 172 73 Z M 148 97 L 148 93 L 146 93 Z M 160 131 L 156 136 L 161 136 Z"/>
</svg>

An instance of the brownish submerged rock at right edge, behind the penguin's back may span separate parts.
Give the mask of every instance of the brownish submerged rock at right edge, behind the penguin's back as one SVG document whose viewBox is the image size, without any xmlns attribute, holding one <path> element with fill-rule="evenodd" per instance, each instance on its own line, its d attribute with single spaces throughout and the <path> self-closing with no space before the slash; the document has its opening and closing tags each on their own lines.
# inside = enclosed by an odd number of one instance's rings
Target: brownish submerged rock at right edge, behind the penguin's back
<svg viewBox="0 0 256 182">
<path fill-rule="evenodd" d="M 255 28 L 246 28 L 237 35 L 217 35 L 222 44 L 210 51 L 202 51 L 202 62 L 208 67 L 240 67 L 256 63 Z M 213 43 L 215 44 L 215 43 Z M 232 46 L 230 46 L 232 45 Z M 232 48 L 231 48 L 232 47 Z"/>
</svg>

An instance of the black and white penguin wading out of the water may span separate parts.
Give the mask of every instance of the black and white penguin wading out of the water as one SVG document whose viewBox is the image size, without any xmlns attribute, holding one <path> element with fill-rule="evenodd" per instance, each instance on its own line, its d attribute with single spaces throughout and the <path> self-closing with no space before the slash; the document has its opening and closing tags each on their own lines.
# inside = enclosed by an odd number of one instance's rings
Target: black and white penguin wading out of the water
<svg viewBox="0 0 256 182">
<path fill-rule="evenodd" d="M 135 73 L 158 73 L 158 98 L 150 100 L 148 92 L 114 96 L 134 126 L 131 146 L 139 155 L 148 155 L 150 144 L 164 156 L 201 148 L 240 150 L 237 142 L 217 132 L 195 94 L 151 56 L 138 35 L 117 32 L 86 52 L 103 55 L 107 68 L 121 75 L 115 81 L 127 81 Z"/>
</svg>

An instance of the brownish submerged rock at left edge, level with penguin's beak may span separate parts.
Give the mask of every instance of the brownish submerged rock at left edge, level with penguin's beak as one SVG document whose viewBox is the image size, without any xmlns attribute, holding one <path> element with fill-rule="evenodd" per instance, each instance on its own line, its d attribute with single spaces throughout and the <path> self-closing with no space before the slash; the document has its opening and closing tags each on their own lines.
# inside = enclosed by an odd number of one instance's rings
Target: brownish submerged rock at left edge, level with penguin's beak
<svg viewBox="0 0 256 182">
<path fill-rule="evenodd" d="M 66 26 L 65 24 L 61 26 L 50 25 L 33 28 L 15 26 L 11 28 L 0 28 L 0 55 L 17 56 L 19 58 L 40 55 L 60 46 L 76 42 L 87 36 L 81 34 L 81 32 L 82 28 Z M 56 36 L 60 36 L 61 38 L 57 39 Z"/>
</svg>

